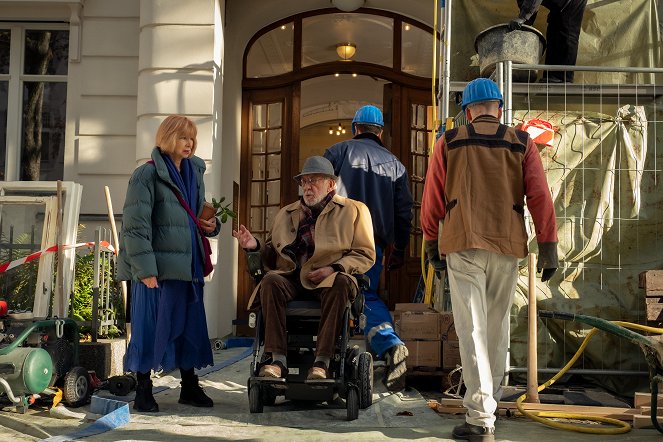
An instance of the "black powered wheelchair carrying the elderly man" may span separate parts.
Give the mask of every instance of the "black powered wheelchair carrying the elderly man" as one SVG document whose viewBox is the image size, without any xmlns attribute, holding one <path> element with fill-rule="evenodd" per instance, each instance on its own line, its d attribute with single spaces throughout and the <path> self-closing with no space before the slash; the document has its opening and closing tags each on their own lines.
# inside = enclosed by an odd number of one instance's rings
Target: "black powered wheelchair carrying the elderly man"
<svg viewBox="0 0 663 442">
<path fill-rule="evenodd" d="M 254 281 L 262 279 L 259 252 L 249 252 L 249 273 Z M 249 326 L 255 328 L 253 360 L 247 383 L 249 410 L 262 413 L 265 405 L 272 406 L 278 396 L 288 400 L 329 402 L 337 396 L 345 399 L 347 420 L 359 417 L 359 410 L 373 403 L 373 357 L 350 346 L 351 336 L 362 333 L 366 323 L 363 291 L 368 287 L 368 278 L 354 275 L 359 290 L 354 301 L 348 300 L 343 313 L 340 335 L 336 339 L 334 356 L 327 368 L 327 379 L 307 380 L 308 369 L 315 360 L 315 338 L 320 321 L 320 302 L 317 300 L 290 301 L 286 306 L 286 333 L 288 374 L 286 378 L 259 377 L 260 368 L 271 362 L 265 354 L 264 326 L 260 309 L 249 315 Z"/>
</svg>

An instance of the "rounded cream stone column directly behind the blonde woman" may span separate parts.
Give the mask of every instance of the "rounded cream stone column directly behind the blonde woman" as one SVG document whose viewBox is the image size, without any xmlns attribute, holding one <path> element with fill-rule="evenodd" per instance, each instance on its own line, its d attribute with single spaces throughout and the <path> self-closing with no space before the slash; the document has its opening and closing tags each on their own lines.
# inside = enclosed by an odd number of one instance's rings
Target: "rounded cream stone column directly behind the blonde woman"
<svg viewBox="0 0 663 442">
<path fill-rule="evenodd" d="M 136 162 L 150 158 L 157 128 L 166 116 L 186 115 L 198 126 L 196 155 L 207 163 L 208 201 L 220 195 L 216 109 L 221 108 L 223 8 L 224 0 L 140 0 Z M 216 265 L 217 239 L 210 242 Z M 205 284 L 210 338 L 218 337 L 217 311 L 222 302 L 217 272 Z"/>
</svg>

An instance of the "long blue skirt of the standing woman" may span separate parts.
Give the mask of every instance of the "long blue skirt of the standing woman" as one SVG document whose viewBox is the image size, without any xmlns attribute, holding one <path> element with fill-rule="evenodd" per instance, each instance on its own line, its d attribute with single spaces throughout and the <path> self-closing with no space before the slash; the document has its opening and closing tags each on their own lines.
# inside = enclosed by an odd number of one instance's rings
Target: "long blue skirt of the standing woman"
<svg viewBox="0 0 663 442">
<path fill-rule="evenodd" d="M 131 326 L 126 371 L 188 370 L 213 364 L 202 283 L 166 280 L 150 289 L 132 282 Z"/>
</svg>

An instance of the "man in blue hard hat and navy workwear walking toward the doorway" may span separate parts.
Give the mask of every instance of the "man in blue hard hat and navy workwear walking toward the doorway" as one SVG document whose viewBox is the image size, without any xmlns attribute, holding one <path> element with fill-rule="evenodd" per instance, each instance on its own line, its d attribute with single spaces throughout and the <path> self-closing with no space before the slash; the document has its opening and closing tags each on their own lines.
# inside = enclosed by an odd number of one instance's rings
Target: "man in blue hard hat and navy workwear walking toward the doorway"
<svg viewBox="0 0 663 442">
<path fill-rule="evenodd" d="M 366 273 L 371 281 L 365 293 L 366 328 L 371 349 L 387 361 L 385 384 L 395 391 L 405 385 L 407 348 L 394 331 L 391 314 L 377 291 L 382 257 L 388 248 L 388 270 L 405 262 L 410 240 L 412 195 L 403 163 L 382 144 L 384 120 L 375 106 L 363 106 L 352 120 L 351 140 L 336 143 L 324 153 L 338 176 L 337 193 L 366 204 L 373 219 L 375 265 Z"/>
</svg>

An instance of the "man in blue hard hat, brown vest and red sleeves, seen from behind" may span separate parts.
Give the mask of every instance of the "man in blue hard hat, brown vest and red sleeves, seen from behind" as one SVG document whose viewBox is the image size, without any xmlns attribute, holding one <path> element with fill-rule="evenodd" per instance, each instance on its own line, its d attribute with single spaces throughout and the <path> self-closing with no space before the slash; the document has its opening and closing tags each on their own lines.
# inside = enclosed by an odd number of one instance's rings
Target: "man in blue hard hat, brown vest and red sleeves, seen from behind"
<svg viewBox="0 0 663 442">
<path fill-rule="evenodd" d="M 463 92 L 465 126 L 435 144 L 421 203 L 429 261 L 445 266 L 458 334 L 467 408 L 453 437 L 495 440 L 509 346 L 509 310 L 518 260 L 527 256 L 525 201 L 534 220 L 541 281 L 558 267 L 557 224 L 536 144 L 527 132 L 500 124 L 502 94 L 492 80 L 471 81 Z M 443 221 L 439 237 L 439 222 Z"/>
</svg>

